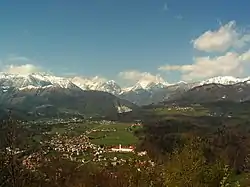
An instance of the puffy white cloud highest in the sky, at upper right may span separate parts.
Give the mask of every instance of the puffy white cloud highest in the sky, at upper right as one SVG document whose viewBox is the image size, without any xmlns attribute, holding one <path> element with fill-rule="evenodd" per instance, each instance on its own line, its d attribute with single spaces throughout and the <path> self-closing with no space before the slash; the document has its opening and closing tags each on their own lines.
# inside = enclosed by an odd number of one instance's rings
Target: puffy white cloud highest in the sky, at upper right
<svg viewBox="0 0 250 187">
<path fill-rule="evenodd" d="M 239 31 L 235 21 L 222 25 L 218 30 L 208 30 L 191 41 L 193 47 L 206 52 L 225 52 L 229 48 L 242 48 L 250 43 L 250 32 Z"/>
</svg>

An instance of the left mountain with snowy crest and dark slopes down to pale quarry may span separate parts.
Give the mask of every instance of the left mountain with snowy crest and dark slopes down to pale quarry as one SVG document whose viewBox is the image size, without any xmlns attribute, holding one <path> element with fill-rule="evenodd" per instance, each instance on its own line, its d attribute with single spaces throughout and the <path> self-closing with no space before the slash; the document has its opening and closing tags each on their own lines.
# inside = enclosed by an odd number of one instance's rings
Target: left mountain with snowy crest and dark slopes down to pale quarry
<svg viewBox="0 0 250 187">
<path fill-rule="evenodd" d="M 103 87 L 104 88 L 104 87 Z M 83 90 L 70 79 L 42 74 L 0 76 L 0 117 L 11 110 L 15 116 L 108 117 L 136 112 L 138 107 L 115 95 Z"/>
</svg>

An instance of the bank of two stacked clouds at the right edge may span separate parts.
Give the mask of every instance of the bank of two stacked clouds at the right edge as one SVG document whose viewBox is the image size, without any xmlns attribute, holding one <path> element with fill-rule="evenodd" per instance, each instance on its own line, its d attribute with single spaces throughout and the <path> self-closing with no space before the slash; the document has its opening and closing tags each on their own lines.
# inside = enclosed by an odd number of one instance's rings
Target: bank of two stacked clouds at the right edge
<svg viewBox="0 0 250 187">
<path fill-rule="evenodd" d="M 218 30 L 208 30 L 191 42 L 194 49 L 208 55 L 194 57 L 192 64 L 167 64 L 158 70 L 179 71 L 186 81 L 228 75 L 240 77 L 250 65 L 250 49 L 241 50 L 250 44 L 250 33 L 239 30 L 235 21 L 220 26 Z M 216 55 L 214 52 L 222 54 Z"/>
</svg>

